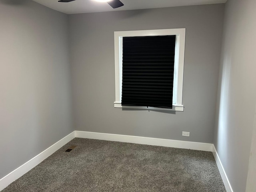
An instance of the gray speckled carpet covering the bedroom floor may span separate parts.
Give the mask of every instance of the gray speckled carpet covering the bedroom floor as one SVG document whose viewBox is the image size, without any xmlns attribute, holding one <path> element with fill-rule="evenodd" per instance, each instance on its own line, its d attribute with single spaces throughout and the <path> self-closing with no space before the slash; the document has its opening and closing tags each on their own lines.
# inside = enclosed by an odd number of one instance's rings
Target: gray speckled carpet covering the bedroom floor
<svg viewBox="0 0 256 192">
<path fill-rule="evenodd" d="M 82 138 L 2 190 L 55 191 L 226 192 L 212 152 Z"/>
</svg>

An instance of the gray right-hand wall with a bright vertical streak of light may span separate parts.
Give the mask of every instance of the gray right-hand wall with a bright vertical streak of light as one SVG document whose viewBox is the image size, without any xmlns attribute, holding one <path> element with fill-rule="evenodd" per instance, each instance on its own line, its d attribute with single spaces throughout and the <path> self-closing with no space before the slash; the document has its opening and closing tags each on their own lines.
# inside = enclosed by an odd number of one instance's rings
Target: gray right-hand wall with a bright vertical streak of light
<svg viewBox="0 0 256 192">
<path fill-rule="evenodd" d="M 256 104 L 256 1 L 228 0 L 214 145 L 234 192 L 244 192 Z"/>
</svg>

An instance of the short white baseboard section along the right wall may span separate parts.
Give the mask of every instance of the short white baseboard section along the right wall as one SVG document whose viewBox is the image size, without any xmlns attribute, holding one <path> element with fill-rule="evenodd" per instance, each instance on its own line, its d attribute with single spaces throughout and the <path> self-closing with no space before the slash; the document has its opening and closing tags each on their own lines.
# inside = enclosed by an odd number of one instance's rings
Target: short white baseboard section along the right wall
<svg viewBox="0 0 256 192">
<path fill-rule="evenodd" d="M 220 171 L 220 176 L 221 176 L 221 178 L 223 180 L 223 183 L 224 183 L 224 186 L 226 188 L 226 191 L 227 192 L 233 192 L 232 187 L 230 185 L 230 182 L 228 180 L 228 176 L 226 175 L 226 172 L 224 170 L 224 167 L 222 166 L 222 163 L 220 161 L 220 158 L 218 156 L 218 153 L 217 153 L 216 148 L 215 148 L 214 145 L 212 146 L 212 153 L 213 153 L 213 156 L 215 158 L 215 161 L 216 161 L 216 164 L 218 166 L 218 169 Z"/>
</svg>

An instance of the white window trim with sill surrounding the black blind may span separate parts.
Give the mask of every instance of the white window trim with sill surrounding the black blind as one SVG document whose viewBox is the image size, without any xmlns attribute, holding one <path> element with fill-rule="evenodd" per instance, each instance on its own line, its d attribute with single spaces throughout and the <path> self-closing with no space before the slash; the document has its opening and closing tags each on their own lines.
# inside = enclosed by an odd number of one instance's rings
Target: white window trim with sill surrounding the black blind
<svg viewBox="0 0 256 192">
<path fill-rule="evenodd" d="M 116 101 L 114 107 L 116 108 L 136 108 L 136 109 L 148 109 L 148 110 L 172 110 L 183 111 L 182 105 L 182 90 L 183 90 L 183 71 L 184 71 L 184 54 L 185 54 L 185 34 L 186 28 L 179 29 L 157 29 L 157 30 L 138 30 L 138 31 L 115 31 L 114 32 L 114 46 L 115 46 L 115 82 L 116 82 Z M 176 104 L 173 104 L 172 109 L 146 107 L 146 106 L 122 106 L 122 37 L 130 36 L 158 36 L 158 35 L 177 35 L 176 52 L 178 51 L 178 84 L 177 84 L 177 96 Z M 177 46 L 178 45 L 178 46 Z"/>
</svg>

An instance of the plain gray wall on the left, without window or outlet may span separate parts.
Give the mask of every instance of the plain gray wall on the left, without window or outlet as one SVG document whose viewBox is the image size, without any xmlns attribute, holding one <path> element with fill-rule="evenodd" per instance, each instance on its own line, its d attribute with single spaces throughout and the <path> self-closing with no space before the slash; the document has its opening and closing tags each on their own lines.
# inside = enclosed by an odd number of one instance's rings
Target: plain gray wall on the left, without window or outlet
<svg viewBox="0 0 256 192">
<path fill-rule="evenodd" d="M 73 131 L 67 15 L 0 0 L 0 178 Z"/>
</svg>

